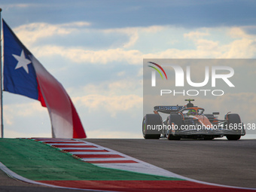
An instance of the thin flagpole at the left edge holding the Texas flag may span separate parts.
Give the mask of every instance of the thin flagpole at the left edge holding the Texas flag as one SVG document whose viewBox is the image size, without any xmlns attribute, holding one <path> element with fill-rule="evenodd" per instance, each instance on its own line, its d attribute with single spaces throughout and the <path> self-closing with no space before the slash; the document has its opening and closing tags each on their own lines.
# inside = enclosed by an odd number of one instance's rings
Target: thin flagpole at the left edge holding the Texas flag
<svg viewBox="0 0 256 192">
<path fill-rule="evenodd" d="M 1 90 L 1 98 L 0 98 L 0 110 L 1 110 L 1 138 L 4 138 L 4 123 L 3 123 L 3 89 L 2 89 L 2 8 L 0 8 L 0 90 Z"/>
</svg>

